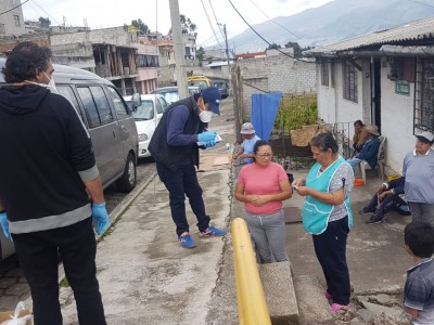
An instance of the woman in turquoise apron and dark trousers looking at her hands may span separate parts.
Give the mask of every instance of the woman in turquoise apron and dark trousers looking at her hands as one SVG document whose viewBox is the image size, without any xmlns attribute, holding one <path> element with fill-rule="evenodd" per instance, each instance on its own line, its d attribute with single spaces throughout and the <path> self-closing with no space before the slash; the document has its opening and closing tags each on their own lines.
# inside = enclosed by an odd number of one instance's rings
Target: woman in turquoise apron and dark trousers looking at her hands
<svg viewBox="0 0 434 325">
<path fill-rule="evenodd" d="M 296 192 L 306 197 L 303 226 L 312 235 L 315 252 L 327 282 L 326 298 L 337 311 L 349 304 L 349 272 L 346 263 L 346 240 L 353 225 L 349 194 L 354 173 L 349 164 L 337 154 L 331 133 L 319 133 L 310 140 L 317 161 L 307 179 L 293 182 Z"/>
</svg>

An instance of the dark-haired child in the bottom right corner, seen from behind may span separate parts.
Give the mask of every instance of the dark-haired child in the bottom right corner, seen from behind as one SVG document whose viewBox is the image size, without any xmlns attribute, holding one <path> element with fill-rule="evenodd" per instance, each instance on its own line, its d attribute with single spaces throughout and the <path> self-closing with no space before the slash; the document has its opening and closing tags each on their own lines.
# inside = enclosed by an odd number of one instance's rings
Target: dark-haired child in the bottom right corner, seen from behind
<svg viewBox="0 0 434 325">
<path fill-rule="evenodd" d="M 425 221 L 413 221 L 404 230 L 405 250 L 414 265 L 407 271 L 404 310 L 414 325 L 434 324 L 434 229 Z"/>
</svg>

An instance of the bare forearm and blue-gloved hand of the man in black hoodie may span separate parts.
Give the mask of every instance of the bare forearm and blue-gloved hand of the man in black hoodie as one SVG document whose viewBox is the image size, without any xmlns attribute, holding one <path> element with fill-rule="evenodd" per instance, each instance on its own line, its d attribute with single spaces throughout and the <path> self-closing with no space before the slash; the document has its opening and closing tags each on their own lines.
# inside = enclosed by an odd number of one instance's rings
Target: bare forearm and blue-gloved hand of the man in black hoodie
<svg viewBox="0 0 434 325">
<path fill-rule="evenodd" d="M 85 183 L 86 190 L 92 198 L 92 219 L 97 234 L 102 235 L 110 225 L 107 210 L 105 209 L 104 192 L 101 178 L 98 177 Z"/>
</svg>

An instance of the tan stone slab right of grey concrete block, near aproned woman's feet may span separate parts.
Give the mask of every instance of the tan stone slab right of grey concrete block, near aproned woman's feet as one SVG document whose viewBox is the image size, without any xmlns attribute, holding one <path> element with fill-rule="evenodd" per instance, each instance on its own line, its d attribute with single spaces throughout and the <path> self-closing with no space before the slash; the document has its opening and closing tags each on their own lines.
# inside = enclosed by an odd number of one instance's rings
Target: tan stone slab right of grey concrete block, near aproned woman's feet
<svg viewBox="0 0 434 325">
<path fill-rule="evenodd" d="M 334 324 L 335 318 L 317 277 L 299 275 L 292 278 L 301 325 Z"/>
</svg>

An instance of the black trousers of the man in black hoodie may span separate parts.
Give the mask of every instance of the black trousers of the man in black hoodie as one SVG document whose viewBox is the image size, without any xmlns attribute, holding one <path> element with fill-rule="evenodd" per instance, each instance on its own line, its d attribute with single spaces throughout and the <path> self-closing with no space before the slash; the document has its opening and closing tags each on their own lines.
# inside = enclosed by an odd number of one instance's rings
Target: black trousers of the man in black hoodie
<svg viewBox="0 0 434 325">
<path fill-rule="evenodd" d="M 27 234 L 13 234 L 16 255 L 31 290 L 35 325 L 61 325 L 58 250 L 74 291 L 80 325 L 105 325 L 97 280 L 92 218 Z"/>
</svg>

